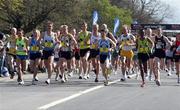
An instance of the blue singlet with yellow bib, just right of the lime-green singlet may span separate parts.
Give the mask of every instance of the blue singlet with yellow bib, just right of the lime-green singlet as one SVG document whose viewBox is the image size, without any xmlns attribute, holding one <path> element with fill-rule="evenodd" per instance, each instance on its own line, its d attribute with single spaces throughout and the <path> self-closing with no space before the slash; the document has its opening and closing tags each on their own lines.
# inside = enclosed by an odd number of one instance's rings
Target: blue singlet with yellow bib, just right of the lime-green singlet
<svg viewBox="0 0 180 110">
<path fill-rule="evenodd" d="M 29 46 L 30 46 L 30 53 L 37 53 L 40 50 L 40 43 L 34 38 L 31 39 Z"/>
</svg>

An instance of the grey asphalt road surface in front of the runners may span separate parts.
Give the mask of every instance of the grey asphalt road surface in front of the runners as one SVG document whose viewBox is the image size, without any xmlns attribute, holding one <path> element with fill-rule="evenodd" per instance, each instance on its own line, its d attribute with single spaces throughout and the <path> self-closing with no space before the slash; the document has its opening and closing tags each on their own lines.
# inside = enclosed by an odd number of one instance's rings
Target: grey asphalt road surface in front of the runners
<svg viewBox="0 0 180 110">
<path fill-rule="evenodd" d="M 162 85 L 147 81 L 140 87 L 140 79 L 120 82 L 120 75 L 112 74 L 111 84 L 103 86 L 94 82 L 94 74 L 88 80 L 77 75 L 68 82 L 54 81 L 46 85 L 47 74 L 39 74 L 37 85 L 31 85 L 31 74 L 24 75 L 25 85 L 17 85 L 16 79 L 0 78 L 0 110 L 180 110 L 180 85 L 176 75 L 162 72 Z"/>
</svg>

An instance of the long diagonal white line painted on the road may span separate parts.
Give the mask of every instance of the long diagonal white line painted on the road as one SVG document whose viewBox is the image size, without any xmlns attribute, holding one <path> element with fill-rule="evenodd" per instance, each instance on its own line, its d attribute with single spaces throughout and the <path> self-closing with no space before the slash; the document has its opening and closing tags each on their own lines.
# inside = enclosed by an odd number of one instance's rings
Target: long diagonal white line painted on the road
<svg viewBox="0 0 180 110">
<path fill-rule="evenodd" d="M 117 83 L 118 81 L 119 81 L 119 79 L 118 79 L 118 80 L 114 80 L 114 81 L 112 81 L 112 82 L 109 82 L 108 85 Z M 90 88 L 90 89 L 86 89 L 86 90 L 84 90 L 84 91 L 82 91 L 82 92 L 73 94 L 73 95 L 68 96 L 68 97 L 66 97 L 66 98 L 59 99 L 59 100 L 56 100 L 56 101 L 51 102 L 51 103 L 49 103 L 49 104 L 43 105 L 43 106 L 39 107 L 38 110 L 47 110 L 48 108 L 51 108 L 51 107 L 56 106 L 56 105 L 58 105 L 58 104 L 61 104 L 61 103 L 67 102 L 67 101 L 69 101 L 69 100 L 75 99 L 75 98 L 77 98 L 77 97 L 79 97 L 79 96 L 81 96 L 81 95 L 87 94 L 87 93 L 89 93 L 89 92 L 98 90 L 98 89 L 103 88 L 103 87 L 105 87 L 105 86 L 104 86 L 104 85 L 99 85 L 99 86 L 92 87 L 92 88 Z"/>
</svg>

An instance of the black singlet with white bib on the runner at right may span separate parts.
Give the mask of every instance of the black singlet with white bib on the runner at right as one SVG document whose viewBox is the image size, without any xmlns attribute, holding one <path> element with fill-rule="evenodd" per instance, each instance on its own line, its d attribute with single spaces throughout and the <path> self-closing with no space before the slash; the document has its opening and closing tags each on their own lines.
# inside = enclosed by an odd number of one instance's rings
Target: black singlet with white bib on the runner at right
<svg viewBox="0 0 180 110">
<path fill-rule="evenodd" d="M 164 50 L 166 47 L 166 42 L 163 36 L 161 38 L 155 37 L 155 50 Z"/>
</svg>

